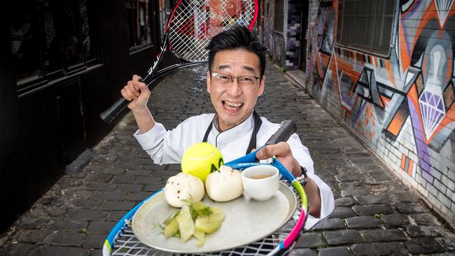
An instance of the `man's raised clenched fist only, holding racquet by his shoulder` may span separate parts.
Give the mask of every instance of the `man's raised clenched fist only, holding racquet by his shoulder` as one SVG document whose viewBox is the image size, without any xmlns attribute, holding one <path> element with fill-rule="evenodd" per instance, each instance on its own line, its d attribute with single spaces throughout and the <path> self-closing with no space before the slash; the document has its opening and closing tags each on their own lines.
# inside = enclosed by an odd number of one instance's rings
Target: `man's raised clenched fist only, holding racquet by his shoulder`
<svg viewBox="0 0 455 256">
<path fill-rule="evenodd" d="M 127 85 L 120 91 L 122 96 L 131 101 L 128 108 L 132 111 L 144 110 L 147 107 L 150 90 L 145 83 L 141 82 L 141 77 L 134 75 L 132 80 L 128 81 Z"/>
</svg>

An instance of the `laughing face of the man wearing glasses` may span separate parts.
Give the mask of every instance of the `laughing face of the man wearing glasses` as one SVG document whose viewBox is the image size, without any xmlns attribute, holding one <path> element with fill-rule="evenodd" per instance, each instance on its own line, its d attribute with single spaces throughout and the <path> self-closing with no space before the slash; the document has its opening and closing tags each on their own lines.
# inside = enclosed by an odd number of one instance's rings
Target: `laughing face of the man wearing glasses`
<svg viewBox="0 0 455 256">
<path fill-rule="evenodd" d="M 211 68 L 212 73 L 235 77 L 260 76 L 259 57 L 244 49 L 217 52 Z M 207 92 L 218 113 L 218 129 L 224 131 L 246 120 L 258 97 L 264 92 L 264 84 L 265 78 L 258 79 L 251 90 L 242 90 L 237 79 L 234 79 L 228 87 L 222 86 L 207 72 Z"/>
</svg>

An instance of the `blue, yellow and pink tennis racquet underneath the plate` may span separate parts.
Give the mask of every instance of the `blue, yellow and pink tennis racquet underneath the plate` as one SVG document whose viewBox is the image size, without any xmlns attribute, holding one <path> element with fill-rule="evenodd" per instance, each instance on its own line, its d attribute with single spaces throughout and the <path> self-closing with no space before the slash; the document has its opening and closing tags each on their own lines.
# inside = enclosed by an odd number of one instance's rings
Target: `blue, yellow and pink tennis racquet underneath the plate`
<svg viewBox="0 0 455 256">
<path fill-rule="evenodd" d="M 275 134 L 269 138 L 269 141 L 265 145 L 271 145 L 279 143 L 280 141 L 287 141 L 290 135 L 295 132 L 295 123 L 292 121 L 284 121 L 281 127 L 275 132 Z M 265 146 L 264 145 L 264 146 Z M 263 146 L 263 147 L 264 147 Z M 263 148 L 261 147 L 261 148 Z M 260 148 L 258 149 L 260 150 Z M 243 170 L 250 166 L 259 165 L 258 159 L 255 157 L 256 152 L 251 152 L 244 157 L 240 157 L 225 165 L 231 166 L 234 169 Z M 286 183 L 289 187 L 293 188 L 293 192 L 297 197 L 297 209 L 293 214 L 293 218 L 288 221 L 281 229 L 274 232 L 274 234 L 265 237 L 260 241 L 250 243 L 246 246 L 238 248 L 232 248 L 231 250 L 225 250 L 214 253 L 204 253 L 200 255 L 276 255 L 277 253 L 286 254 L 290 250 L 295 241 L 300 236 L 304 227 L 304 222 L 307 220 L 308 213 L 308 201 L 307 195 L 304 192 L 302 185 L 294 178 L 294 176 L 284 167 L 276 157 L 272 158 L 270 164 L 279 169 L 281 174 L 281 181 Z M 104 241 L 103 256 L 110 255 L 169 255 L 168 252 L 163 252 L 150 248 L 144 243 L 141 243 L 132 232 L 132 223 L 134 213 L 144 204 L 145 201 L 153 197 L 155 194 L 162 192 L 158 190 L 150 197 L 141 201 L 137 206 L 132 208 L 117 224 L 113 227 L 111 233 Z"/>
</svg>

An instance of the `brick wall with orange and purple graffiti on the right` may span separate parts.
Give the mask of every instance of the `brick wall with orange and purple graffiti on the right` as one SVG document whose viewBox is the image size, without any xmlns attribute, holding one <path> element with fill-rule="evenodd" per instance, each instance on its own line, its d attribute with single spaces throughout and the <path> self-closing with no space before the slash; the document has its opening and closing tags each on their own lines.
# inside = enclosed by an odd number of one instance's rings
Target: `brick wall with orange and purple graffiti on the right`
<svg viewBox="0 0 455 256">
<path fill-rule="evenodd" d="M 309 93 L 454 224 L 454 0 L 395 1 L 387 57 L 337 45 L 336 0 L 309 12 Z"/>
</svg>

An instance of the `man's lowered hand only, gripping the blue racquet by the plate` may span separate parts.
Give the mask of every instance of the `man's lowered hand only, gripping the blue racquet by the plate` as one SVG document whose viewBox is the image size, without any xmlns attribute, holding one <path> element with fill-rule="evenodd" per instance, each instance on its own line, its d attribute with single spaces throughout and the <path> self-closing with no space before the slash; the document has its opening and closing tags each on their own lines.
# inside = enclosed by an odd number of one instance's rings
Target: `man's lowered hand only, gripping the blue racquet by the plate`
<svg viewBox="0 0 455 256">
<path fill-rule="evenodd" d="M 281 141 L 275 145 L 266 145 L 264 148 L 256 153 L 258 159 L 269 159 L 270 157 L 276 156 L 279 162 L 286 167 L 294 177 L 302 175 L 302 169 L 300 164 L 293 157 L 293 152 L 290 151 L 289 144 Z"/>
</svg>

